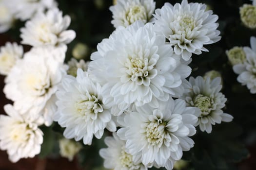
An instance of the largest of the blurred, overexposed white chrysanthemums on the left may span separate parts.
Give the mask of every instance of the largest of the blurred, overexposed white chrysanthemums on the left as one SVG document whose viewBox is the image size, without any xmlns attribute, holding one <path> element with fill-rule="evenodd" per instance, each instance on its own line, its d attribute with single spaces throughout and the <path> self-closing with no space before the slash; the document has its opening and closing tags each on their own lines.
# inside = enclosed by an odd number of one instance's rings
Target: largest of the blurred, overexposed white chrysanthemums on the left
<svg viewBox="0 0 256 170">
<path fill-rule="evenodd" d="M 65 46 L 33 48 L 16 62 L 5 80 L 3 91 L 14 107 L 21 114 L 41 115 L 47 126 L 57 109 L 55 93 L 66 72 L 65 52 Z"/>
</svg>

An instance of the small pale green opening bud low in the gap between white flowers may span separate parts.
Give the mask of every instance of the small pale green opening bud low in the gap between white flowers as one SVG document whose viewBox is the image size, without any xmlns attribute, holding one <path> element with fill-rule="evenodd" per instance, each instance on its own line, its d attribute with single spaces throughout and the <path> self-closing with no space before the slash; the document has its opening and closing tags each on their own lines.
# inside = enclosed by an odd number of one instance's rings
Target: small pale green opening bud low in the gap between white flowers
<svg viewBox="0 0 256 170">
<path fill-rule="evenodd" d="M 82 145 L 70 139 L 59 139 L 59 153 L 62 157 L 68 158 L 69 161 L 74 159 L 74 156 L 80 151 Z"/>
</svg>

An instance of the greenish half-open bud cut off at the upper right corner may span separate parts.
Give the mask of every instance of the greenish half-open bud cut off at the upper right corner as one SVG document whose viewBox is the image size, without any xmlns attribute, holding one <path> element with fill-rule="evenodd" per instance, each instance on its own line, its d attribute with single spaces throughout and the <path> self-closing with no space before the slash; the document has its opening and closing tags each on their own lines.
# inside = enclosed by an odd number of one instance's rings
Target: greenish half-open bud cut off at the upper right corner
<svg viewBox="0 0 256 170">
<path fill-rule="evenodd" d="M 256 28 L 256 6 L 244 4 L 240 7 L 240 17 L 242 22 L 248 28 Z"/>
</svg>

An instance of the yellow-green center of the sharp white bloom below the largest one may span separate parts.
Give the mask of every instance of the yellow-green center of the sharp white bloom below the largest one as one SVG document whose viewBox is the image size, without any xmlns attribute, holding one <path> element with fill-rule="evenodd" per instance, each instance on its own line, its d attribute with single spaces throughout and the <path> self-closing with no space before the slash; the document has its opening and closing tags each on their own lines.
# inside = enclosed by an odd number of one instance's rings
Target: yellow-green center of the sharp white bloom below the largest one
<svg viewBox="0 0 256 170">
<path fill-rule="evenodd" d="M 164 140 L 164 123 L 150 122 L 146 128 L 147 140 L 150 144 L 161 146 Z"/>
</svg>

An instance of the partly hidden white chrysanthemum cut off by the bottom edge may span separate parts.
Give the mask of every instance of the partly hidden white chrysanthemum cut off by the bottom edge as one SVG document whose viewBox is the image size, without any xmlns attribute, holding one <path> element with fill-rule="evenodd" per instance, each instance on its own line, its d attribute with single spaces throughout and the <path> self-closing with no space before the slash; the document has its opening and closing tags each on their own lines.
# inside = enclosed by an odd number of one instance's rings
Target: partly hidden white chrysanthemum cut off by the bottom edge
<svg viewBox="0 0 256 170">
<path fill-rule="evenodd" d="M 99 155 L 104 158 L 104 167 L 112 170 L 147 170 L 141 160 L 133 161 L 133 156 L 126 152 L 125 141 L 121 140 L 114 132 L 113 137 L 104 139 L 108 148 L 99 150 Z"/>
</svg>

